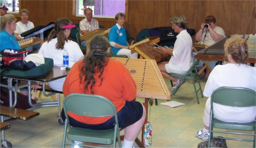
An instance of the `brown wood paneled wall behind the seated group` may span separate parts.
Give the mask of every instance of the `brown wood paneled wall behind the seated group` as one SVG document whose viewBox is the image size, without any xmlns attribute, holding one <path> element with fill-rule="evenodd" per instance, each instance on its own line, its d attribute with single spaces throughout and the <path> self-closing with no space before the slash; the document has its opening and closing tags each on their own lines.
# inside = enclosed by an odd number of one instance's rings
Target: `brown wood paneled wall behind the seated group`
<svg viewBox="0 0 256 148">
<path fill-rule="evenodd" d="M 47 25 L 57 18 L 70 18 L 69 1 L 32 1 L 21 0 L 21 7 L 30 10 L 30 20 L 35 24 Z M 21 8 L 21 9 L 22 9 Z M 128 23 L 124 26 L 129 34 L 136 38 L 143 28 L 170 26 L 170 17 L 182 14 L 187 17 L 188 27 L 196 31 L 204 18 L 210 14 L 216 17 L 216 25 L 221 26 L 229 34 L 255 34 L 255 1 L 134 1 L 128 3 Z M 81 18 L 82 20 L 83 18 Z M 78 23 L 78 19 L 72 20 Z M 114 22 L 99 21 L 108 28 Z"/>
</svg>

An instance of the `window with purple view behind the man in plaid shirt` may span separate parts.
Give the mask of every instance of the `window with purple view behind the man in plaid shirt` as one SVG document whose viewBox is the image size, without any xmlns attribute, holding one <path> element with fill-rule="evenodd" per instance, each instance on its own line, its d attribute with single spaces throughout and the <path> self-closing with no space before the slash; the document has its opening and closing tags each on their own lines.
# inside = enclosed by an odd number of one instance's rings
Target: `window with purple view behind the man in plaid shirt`
<svg viewBox="0 0 256 148">
<path fill-rule="evenodd" d="M 127 0 L 76 0 L 76 16 L 84 17 L 84 9 L 91 8 L 93 17 L 114 18 L 118 12 L 126 13 Z"/>
</svg>

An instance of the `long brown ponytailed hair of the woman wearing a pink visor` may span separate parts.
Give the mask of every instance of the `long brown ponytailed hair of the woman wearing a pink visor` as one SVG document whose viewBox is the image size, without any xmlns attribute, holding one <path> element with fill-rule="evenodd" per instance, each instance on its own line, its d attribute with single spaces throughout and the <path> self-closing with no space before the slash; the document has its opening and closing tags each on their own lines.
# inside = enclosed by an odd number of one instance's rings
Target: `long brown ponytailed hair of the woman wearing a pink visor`
<svg viewBox="0 0 256 148">
<path fill-rule="evenodd" d="M 65 25 L 72 24 L 72 21 L 70 21 L 67 18 L 60 18 L 56 20 L 54 29 L 50 32 L 47 41 L 57 38 L 56 43 L 56 49 L 64 49 L 65 41 L 68 41 L 68 39 L 65 37 L 64 30 L 61 27 Z"/>
</svg>

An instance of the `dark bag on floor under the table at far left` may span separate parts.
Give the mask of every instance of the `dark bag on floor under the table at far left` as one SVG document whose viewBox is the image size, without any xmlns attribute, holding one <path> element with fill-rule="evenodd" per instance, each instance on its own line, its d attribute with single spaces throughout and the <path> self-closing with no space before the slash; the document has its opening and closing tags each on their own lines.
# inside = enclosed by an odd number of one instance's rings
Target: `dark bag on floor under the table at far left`
<svg viewBox="0 0 256 148">
<path fill-rule="evenodd" d="M 15 108 L 20 109 L 28 109 L 31 108 L 30 104 L 28 103 L 28 97 L 24 94 L 17 92 L 17 104 Z M 8 88 L 1 87 L 1 106 L 8 106 L 9 107 L 9 90 Z M 14 102 L 14 93 L 12 92 L 12 102 Z M 36 103 L 35 100 L 31 100 L 33 104 Z"/>
</svg>

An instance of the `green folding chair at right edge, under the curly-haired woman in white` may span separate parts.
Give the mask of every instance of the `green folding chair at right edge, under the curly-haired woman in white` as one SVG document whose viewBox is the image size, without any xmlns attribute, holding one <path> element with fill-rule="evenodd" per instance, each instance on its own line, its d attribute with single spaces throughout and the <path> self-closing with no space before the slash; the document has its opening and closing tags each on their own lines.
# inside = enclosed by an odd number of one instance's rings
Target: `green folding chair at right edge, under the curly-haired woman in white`
<svg viewBox="0 0 256 148">
<path fill-rule="evenodd" d="M 214 118 L 214 107 L 213 103 L 218 103 L 224 106 L 230 107 L 252 107 L 256 106 L 256 95 L 255 91 L 250 90 L 248 88 L 242 87 L 220 87 L 211 94 L 211 110 L 210 110 L 210 128 L 209 128 L 209 140 L 208 147 L 210 147 L 210 141 L 215 138 L 213 136 L 214 132 L 222 133 L 222 134 L 235 134 L 235 135 L 248 135 L 253 136 L 252 139 L 241 139 L 241 138 L 225 138 L 225 137 L 217 137 L 220 139 L 228 139 L 228 140 L 240 140 L 253 142 L 253 147 L 255 147 L 255 133 L 256 133 L 256 123 L 255 121 L 250 123 L 231 123 L 231 122 L 223 122 Z M 213 128 L 220 129 L 232 129 L 232 130 L 248 130 L 254 131 L 254 134 L 248 134 L 244 132 L 231 132 L 231 131 L 220 131 L 213 130 Z"/>
</svg>

